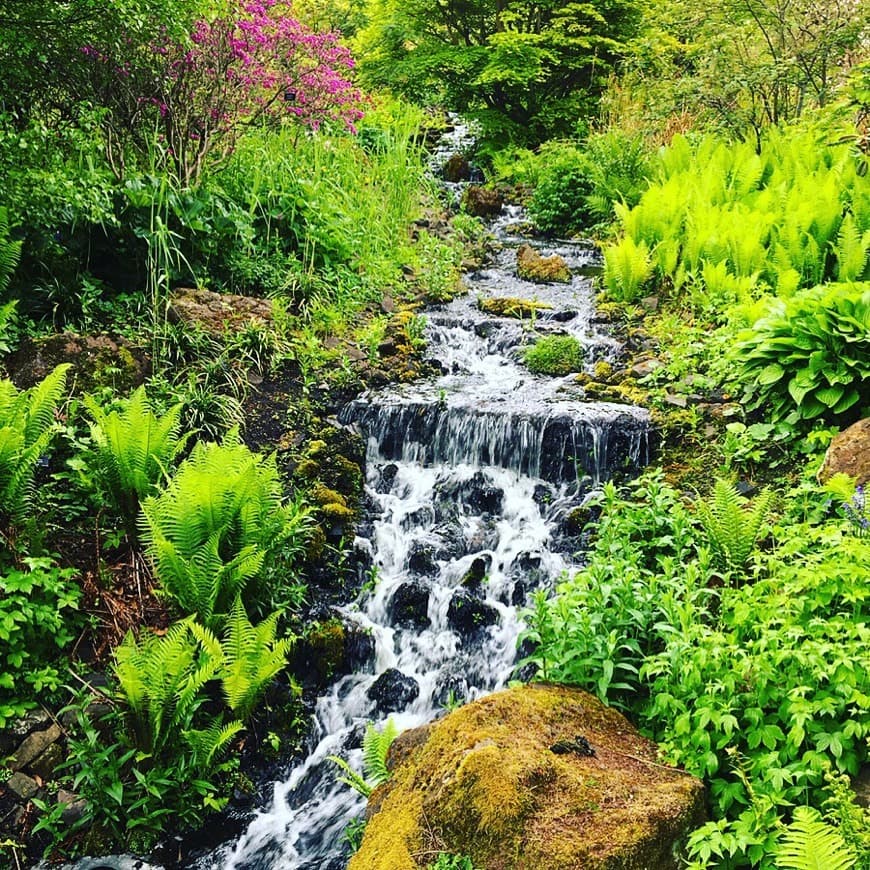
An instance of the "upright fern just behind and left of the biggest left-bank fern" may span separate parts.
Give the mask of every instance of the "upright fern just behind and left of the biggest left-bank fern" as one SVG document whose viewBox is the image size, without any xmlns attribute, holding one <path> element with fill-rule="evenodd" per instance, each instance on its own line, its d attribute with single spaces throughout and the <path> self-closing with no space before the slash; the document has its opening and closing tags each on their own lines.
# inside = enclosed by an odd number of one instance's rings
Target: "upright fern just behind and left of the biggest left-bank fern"
<svg viewBox="0 0 870 870">
<path fill-rule="evenodd" d="M 144 387 L 139 387 L 121 410 L 107 413 L 93 396 L 86 396 L 84 402 L 93 418 L 97 480 L 128 535 L 135 539 L 142 501 L 156 493 L 190 437 L 190 433 L 181 436 L 181 406 L 158 416 Z"/>
</svg>

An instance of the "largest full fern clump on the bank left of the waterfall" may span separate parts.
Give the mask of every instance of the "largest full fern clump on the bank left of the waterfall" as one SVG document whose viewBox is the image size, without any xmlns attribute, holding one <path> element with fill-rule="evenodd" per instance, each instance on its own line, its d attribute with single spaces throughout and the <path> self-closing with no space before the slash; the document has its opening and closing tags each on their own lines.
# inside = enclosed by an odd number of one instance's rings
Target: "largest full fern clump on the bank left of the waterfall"
<svg viewBox="0 0 870 870">
<path fill-rule="evenodd" d="M 166 488 L 142 505 L 142 537 L 162 589 L 185 614 L 214 625 L 242 594 L 255 610 L 286 593 L 310 525 L 282 502 L 274 457 L 230 433 L 198 443 Z"/>
</svg>

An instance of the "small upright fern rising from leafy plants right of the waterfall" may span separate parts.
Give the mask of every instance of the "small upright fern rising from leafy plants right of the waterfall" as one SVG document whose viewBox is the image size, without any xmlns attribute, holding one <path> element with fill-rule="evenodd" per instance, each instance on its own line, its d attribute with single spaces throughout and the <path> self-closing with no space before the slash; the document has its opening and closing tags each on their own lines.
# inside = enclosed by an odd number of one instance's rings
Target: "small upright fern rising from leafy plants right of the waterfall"
<svg viewBox="0 0 870 870">
<path fill-rule="evenodd" d="M 712 499 L 698 503 L 698 519 L 714 557 L 725 571 L 736 575 L 745 571 L 772 504 L 773 493 L 764 490 L 749 506 L 734 485 L 723 478 L 716 479 Z"/>
</svg>

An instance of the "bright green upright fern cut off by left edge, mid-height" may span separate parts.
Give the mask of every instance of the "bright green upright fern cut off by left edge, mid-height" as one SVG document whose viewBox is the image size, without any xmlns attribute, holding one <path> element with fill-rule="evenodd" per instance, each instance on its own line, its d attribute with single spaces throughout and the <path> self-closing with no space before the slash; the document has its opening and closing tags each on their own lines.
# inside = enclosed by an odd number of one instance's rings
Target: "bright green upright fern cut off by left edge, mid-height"
<svg viewBox="0 0 870 870">
<path fill-rule="evenodd" d="M 33 476 L 57 431 L 55 413 L 69 365 L 60 365 L 29 390 L 0 380 L 0 521 L 28 519 Z"/>
</svg>

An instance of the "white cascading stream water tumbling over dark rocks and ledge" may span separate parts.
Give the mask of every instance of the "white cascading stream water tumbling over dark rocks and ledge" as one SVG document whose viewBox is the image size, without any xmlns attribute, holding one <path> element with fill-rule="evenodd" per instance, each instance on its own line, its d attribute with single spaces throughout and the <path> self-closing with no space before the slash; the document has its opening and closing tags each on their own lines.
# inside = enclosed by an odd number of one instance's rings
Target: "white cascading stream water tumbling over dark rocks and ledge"
<svg viewBox="0 0 870 870">
<path fill-rule="evenodd" d="M 503 686 L 529 592 L 571 563 L 559 531 L 566 512 L 594 482 L 646 461 L 645 412 L 586 403 L 573 377 L 531 375 L 519 362 L 529 324 L 479 311 L 478 294 L 535 298 L 552 306 L 536 333 L 575 335 L 590 366 L 616 351 L 594 329 L 584 277 L 594 250 L 560 244 L 572 282 L 527 284 L 513 274 L 506 227 L 516 217 L 496 223 L 504 247 L 468 276 L 471 292 L 426 314 L 428 353 L 443 374 L 364 395 L 340 416 L 368 438 L 372 509 L 356 546 L 377 569 L 374 588 L 341 614 L 371 633 L 375 654 L 366 672 L 319 699 L 314 750 L 275 784 L 242 838 L 204 866 L 344 867 L 342 832 L 364 802 L 337 782 L 327 756 L 359 769 L 364 723 L 392 715 L 412 727 Z"/>
</svg>

